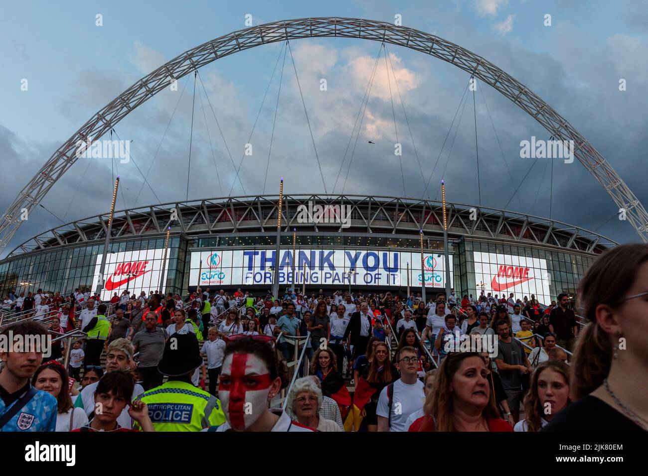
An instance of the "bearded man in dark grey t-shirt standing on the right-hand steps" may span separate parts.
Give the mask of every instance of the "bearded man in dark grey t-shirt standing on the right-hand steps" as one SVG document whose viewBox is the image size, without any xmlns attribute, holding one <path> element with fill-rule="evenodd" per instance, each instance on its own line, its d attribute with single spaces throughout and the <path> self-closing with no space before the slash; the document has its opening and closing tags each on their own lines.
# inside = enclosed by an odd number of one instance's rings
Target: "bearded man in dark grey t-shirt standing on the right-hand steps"
<svg viewBox="0 0 648 476">
<path fill-rule="evenodd" d="M 533 372 L 533 368 L 531 368 L 531 363 L 527 359 L 520 341 L 511 337 L 509 323 L 502 319 L 496 325 L 500 340 L 498 341 L 499 352 L 495 357 L 495 365 L 502 379 L 502 387 L 506 392 L 513 420 L 517 423 L 520 419 L 520 403 L 524 397 L 522 376 Z"/>
</svg>

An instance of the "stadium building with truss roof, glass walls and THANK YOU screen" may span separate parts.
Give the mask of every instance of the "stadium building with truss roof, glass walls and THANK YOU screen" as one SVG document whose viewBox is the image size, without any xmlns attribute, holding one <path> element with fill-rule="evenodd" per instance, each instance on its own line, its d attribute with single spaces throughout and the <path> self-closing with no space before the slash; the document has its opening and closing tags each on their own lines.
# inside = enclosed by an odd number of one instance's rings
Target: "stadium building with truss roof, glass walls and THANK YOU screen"
<svg viewBox="0 0 648 476">
<path fill-rule="evenodd" d="M 270 291 L 278 209 L 278 195 L 263 195 L 115 212 L 102 299 L 124 289 L 148 293 L 161 282 L 163 291 L 180 294 L 199 285 Z M 575 293 L 596 256 L 616 245 L 573 225 L 508 210 L 446 203 L 446 212 L 450 287 L 457 295 L 476 296 L 482 290 L 520 298 L 535 294 L 548 304 L 559 293 Z M 0 262 L 3 296 L 10 289 L 93 291 L 107 231 L 108 214 L 102 214 L 20 244 Z M 283 195 L 281 290 L 293 280 L 307 292 L 348 289 L 350 280 L 356 291 L 404 293 L 408 281 L 417 292 L 424 280 L 429 297 L 446 286 L 443 251 L 443 207 L 438 201 Z"/>
</svg>

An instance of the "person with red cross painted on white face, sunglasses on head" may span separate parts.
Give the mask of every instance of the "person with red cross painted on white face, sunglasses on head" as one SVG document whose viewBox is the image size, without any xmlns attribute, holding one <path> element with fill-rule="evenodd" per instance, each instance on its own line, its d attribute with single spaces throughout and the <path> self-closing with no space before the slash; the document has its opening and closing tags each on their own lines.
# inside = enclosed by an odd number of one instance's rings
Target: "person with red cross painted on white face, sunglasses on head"
<svg viewBox="0 0 648 476">
<path fill-rule="evenodd" d="M 204 431 L 312 431 L 268 403 L 288 385 L 286 367 L 270 337 L 228 339 L 218 396 L 226 422 Z"/>
</svg>

